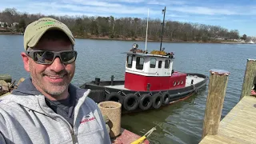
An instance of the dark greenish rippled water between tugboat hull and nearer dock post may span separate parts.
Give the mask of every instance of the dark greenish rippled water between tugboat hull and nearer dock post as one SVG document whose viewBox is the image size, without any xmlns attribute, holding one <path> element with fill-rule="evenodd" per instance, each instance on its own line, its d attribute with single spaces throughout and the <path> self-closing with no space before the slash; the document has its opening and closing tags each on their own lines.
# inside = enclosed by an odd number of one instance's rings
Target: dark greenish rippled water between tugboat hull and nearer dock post
<svg viewBox="0 0 256 144">
<path fill-rule="evenodd" d="M 206 102 L 205 93 L 206 89 L 200 94 L 194 94 L 184 101 L 175 102 L 158 110 L 124 114 L 122 127 L 143 135 L 156 126 L 157 130 L 154 130 L 149 137 L 150 142 L 153 143 L 198 143 L 198 137 L 202 134 L 202 129 L 198 126 L 202 125 L 201 118 L 204 116 L 204 107 L 201 106 L 201 102 L 198 103 L 198 99 Z"/>
</svg>

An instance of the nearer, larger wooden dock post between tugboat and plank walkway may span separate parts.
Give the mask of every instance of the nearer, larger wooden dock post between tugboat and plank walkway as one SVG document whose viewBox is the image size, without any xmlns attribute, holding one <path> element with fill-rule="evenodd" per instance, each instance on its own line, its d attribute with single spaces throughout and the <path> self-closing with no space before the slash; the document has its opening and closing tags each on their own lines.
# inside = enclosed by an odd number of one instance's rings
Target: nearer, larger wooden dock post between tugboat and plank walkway
<svg viewBox="0 0 256 144">
<path fill-rule="evenodd" d="M 207 134 L 218 134 L 218 125 L 222 115 L 222 106 L 226 94 L 229 74 L 230 72 L 226 70 L 210 70 L 202 138 Z"/>
</svg>

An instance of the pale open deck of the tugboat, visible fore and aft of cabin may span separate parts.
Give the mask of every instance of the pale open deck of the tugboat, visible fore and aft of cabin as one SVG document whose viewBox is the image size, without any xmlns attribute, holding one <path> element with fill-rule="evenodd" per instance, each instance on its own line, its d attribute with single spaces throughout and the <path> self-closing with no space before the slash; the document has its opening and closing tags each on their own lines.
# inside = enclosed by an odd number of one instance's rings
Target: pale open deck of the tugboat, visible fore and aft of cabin
<svg viewBox="0 0 256 144">
<path fill-rule="evenodd" d="M 191 86 L 192 79 L 194 80 L 194 84 L 196 84 L 198 82 L 202 82 L 205 78 L 201 78 L 196 75 L 187 75 L 186 76 L 186 86 Z M 118 89 L 118 90 L 129 90 L 129 89 L 126 89 L 124 85 L 115 85 L 115 86 L 106 86 L 106 87 Z"/>
</svg>

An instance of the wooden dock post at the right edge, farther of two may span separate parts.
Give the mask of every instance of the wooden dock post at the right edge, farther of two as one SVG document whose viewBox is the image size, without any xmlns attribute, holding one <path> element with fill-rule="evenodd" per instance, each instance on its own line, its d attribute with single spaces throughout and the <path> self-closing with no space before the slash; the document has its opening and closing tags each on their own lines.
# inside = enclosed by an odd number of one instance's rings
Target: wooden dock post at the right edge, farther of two
<svg viewBox="0 0 256 144">
<path fill-rule="evenodd" d="M 240 100 L 244 96 L 249 96 L 250 95 L 250 90 L 252 86 L 254 86 L 254 76 L 256 72 L 256 60 L 255 59 L 247 59 L 247 64 L 246 64 L 246 72 L 245 76 L 243 78 L 243 83 L 242 83 L 242 92 L 240 96 Z"/>
</svg>

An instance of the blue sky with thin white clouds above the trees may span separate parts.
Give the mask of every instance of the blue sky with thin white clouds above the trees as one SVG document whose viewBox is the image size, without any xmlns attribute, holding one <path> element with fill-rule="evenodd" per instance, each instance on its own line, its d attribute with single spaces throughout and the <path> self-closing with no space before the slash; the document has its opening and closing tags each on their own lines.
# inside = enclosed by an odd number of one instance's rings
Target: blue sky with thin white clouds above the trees
<svg viewBox="0 0 256 144">
<path fill-rule="evenodd" d="M 222 26 L 239 34 L 256 36 L 256 0 L 6 0 L 0 11 L 15 8 L 28 14 L 114 16 Z"/>
</svg>

